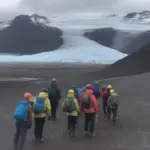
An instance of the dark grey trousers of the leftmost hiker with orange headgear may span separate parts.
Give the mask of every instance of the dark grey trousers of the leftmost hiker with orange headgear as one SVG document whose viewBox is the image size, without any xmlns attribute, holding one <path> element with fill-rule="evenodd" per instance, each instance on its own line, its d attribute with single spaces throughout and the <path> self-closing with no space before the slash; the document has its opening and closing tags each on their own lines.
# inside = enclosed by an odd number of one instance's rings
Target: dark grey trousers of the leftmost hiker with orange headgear
<svg viewBox="0 0 150 150">
<path fill-rule="evenodd" d="M 27 122 L 16 122 L 16 133 L 14 138 L 14 150 L 22 150 L 28 131 Z"/>
</svg>

